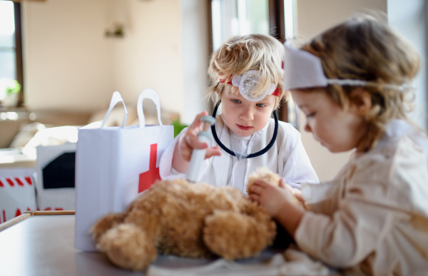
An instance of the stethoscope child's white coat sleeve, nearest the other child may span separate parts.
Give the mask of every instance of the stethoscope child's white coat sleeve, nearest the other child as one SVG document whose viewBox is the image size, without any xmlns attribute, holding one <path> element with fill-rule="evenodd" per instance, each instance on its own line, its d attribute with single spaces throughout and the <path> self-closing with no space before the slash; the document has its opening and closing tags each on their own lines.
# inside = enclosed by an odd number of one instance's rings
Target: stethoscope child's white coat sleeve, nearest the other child
<svg viewBox="0 0 428 276">
<path fill-rule="evenodd" d="M 306 150 L 303 147 L 300 133 L 292 126 L 286 130 L 288 139 L 285 139 L 282 154 L 284 170 L 282 178 L 293 188 L 300 189 L 302 183 L 319 183 Z"/>
</svg>

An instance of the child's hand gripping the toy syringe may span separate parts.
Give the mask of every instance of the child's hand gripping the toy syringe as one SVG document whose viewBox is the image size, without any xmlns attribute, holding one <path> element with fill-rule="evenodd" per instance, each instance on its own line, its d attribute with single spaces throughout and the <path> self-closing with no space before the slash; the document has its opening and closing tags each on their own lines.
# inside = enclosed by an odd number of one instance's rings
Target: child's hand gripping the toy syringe
<svg viewBox="0 0 428 276">
<path fill-rule="evenodd" d="M 206 148 L 205 159 L 210 158 L 213 155 L 221 155 L 220 148 L 216 145 L 215 147 L 208 148 L 207 143 L 202 143 L 198 140 L 198 132 L 202 131 L 202 123 L 200 122 L 200 117 L 207 116 L 207 111 L 203 111 L 196 116 L 195 121 L 188 127 L 187 131 L 183 133 L 178 141 L 178 152 L 181 157 L 190 161 L 192 156 L 193 148 L 203 149 Z"/>
</svg>

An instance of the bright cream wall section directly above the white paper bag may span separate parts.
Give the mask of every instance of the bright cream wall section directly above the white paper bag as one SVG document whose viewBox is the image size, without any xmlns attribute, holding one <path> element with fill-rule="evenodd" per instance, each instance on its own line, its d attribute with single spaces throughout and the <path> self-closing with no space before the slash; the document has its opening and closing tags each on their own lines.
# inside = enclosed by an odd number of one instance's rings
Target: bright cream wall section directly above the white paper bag
<svg viewBox="0 0 428 276">
<path fill-rule="evenodd" d="M 112 89 L 135 104 L 144 88 L 153 88 L 163 108 L 183 115 L 180 1 L 111 1 L 113 13 L 126 14 L 122 17 L 127 19 L 125 37 L 112 41 Z"/>
</svg>

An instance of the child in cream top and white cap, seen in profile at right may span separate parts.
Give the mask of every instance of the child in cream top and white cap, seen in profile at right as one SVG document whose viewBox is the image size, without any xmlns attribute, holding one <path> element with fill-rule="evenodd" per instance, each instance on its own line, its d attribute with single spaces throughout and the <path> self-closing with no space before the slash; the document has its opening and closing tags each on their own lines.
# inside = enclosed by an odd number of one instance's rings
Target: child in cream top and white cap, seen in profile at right
<svg viewBox="0 0 428 276">
<path fill-rule="evenodd" d="M 428 140 L 406 116 L 418 69 L 414 49 L 370 16 L 285 45 L 285 89 L 305 130 L 331 152 L 355 149 L 333 180 L 302 186 L 306 209 L 284 183 L 250 188 L 312 257 L 364 275 L 427 275 Z"/>
</svg>

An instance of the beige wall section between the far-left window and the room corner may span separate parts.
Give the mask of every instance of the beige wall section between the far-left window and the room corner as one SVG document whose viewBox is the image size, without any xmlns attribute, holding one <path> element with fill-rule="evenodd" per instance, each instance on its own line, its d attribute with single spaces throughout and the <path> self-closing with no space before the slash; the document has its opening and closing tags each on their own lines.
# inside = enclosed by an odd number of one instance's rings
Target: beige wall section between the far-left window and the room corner
<svg viewBox="0 0 428 276">
<path fill-rule="evenodd" d="M 111 91 L 105 0 L 22 3 L 25 102 L 29 109 L 88 110 Z"/>
</svg>

